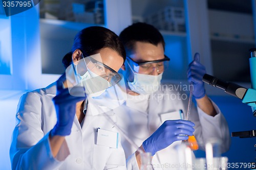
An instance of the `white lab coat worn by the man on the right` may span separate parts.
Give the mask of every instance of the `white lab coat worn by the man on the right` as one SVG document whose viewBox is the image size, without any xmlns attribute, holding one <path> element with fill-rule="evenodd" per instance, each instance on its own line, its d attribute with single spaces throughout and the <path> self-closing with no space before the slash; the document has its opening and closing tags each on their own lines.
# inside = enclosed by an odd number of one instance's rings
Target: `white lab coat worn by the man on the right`
<svg viewBox="0 0 256 170">
<path fill-rule="evenodd" d="M 169 86 L 161 86 L 160 90 L 151 96 L 127 95 L 126 103 L 122 107 L 114 110 L 115 113 L 118 113 L 118 125 L 136 143 L 137 147 L 140 147 L 142 142 L 151 136 L 164 122 L 160 116 L 162 113 L 172 116 L 173 111 L 182 110 L 183 113 L 187 112 L 189 96 L 184 92 L 182 93 L 181 91 L 170 90 L 168 88 Z M 141 100 L 143 98 L 144 100 Z M 196 124 L 194 135 L 199 143 L 200 149 L 204 150 L 204 144 L 207 139 L 215 137 L 222 141 L 221 152 L 226 152 L 230 146 L 228 125 L 220 109 L 215 103 L 213 104 L 217 111 L 216 116 L 209 116 L 200 108 L 196 109 L 193 105 L 189 119 Z M 139 169 L 134 154 L 137 148 L 133 147 L 124 137 L 121 137 L 121 139 L 127 159 L 127 169 Z M 178 160 L 177 150 L 175 150 L 175 145 L 179 143 L 181 141 L 176 141 L 154 155 L 152 164 L 155 169 L 179 168 L 180 162 Z"/>
</svg>

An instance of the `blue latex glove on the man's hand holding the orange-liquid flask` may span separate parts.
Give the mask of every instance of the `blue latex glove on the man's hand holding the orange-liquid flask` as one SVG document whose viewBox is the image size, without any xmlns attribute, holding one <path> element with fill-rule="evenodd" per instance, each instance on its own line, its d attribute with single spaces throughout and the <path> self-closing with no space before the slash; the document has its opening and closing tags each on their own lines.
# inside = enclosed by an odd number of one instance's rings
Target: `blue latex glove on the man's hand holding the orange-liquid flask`
<svg viewBox="0 0 256 170">
<path fill-rule="evenodd" d="M 187 140 L 193 135 L 195 124 L 188 120 L 166 120 L 150 137 L 143 143 L 145 152 L 155 155 L 170 144 L 178 140 Z"/>
</svg>

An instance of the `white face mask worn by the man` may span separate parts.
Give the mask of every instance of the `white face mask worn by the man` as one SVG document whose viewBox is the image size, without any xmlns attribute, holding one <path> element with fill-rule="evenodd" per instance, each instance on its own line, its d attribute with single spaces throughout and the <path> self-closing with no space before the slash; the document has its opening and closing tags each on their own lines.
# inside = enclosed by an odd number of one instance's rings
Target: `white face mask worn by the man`
<svg viewBox="0 0 256 170">
<path fill-rule="evenodd" d="M 159 89 L 163 72 L 157 76 L 139 74 L 134 72 L 129 62 L 127 62 L 127 64 L 134 74 L 133 82 L 128 82 L 128 86 L 132 91 L 135 91 L 139 94 L 151 94 Z"/>
</svg>

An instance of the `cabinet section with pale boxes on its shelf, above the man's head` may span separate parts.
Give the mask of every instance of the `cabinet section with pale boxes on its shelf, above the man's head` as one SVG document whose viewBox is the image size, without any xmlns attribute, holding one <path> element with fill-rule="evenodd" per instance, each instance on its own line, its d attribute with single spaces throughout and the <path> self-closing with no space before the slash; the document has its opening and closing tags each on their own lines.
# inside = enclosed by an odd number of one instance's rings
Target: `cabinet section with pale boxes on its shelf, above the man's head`
<svg viewBox="0 0 256 170">
<path fill-rule="evenodd" d="M 186 37 L 184 2 L 176 0 L 132 0 L 133 22 L 146 22 L 163 36 Z"/>
</svg>

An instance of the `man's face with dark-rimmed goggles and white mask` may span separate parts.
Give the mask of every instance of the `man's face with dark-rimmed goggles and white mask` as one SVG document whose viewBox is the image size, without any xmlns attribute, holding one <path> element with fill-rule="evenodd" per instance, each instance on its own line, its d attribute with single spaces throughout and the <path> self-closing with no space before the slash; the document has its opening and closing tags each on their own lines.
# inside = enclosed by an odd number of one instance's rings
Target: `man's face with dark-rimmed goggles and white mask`
<svg viewBox="0 0 256 170">
<path fill-rule="evenodd" d="M 131 94 L 133 92 L 137 94 L 154 93 L 160 87 L 164 67 L 167 66 L 170 59 L 163 55 L 161 44 L 155 46 L 150 43 L 136 42 L 135 48 L 136 53 L 127 56 L 126 66 L 130 71 L 127 76 L 127 85 L 132 90 Z"/>
</svg>

